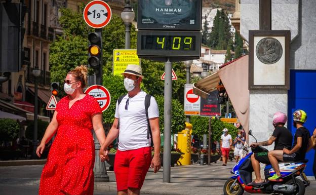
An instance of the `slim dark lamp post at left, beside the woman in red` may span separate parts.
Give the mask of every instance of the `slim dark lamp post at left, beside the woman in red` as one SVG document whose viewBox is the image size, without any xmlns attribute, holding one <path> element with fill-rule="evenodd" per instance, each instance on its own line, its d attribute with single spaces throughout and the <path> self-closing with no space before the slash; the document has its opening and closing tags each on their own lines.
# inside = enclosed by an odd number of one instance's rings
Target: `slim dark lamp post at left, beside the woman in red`
<svg viewBox="0 0 316 195">
<path fill-rule="evenodd" d="M 33 152 L 32 159 L 36 159 L 36 148 L 37 148 L 37 110 L 38 110 L 38 102 L 37 102 L 37 77 L 41 75 L 41 70 L 38 69 L 38 66 L 32 70 L 32 74 L 34 76 L 34 129 L 33 129 Z"/>
</svg>

